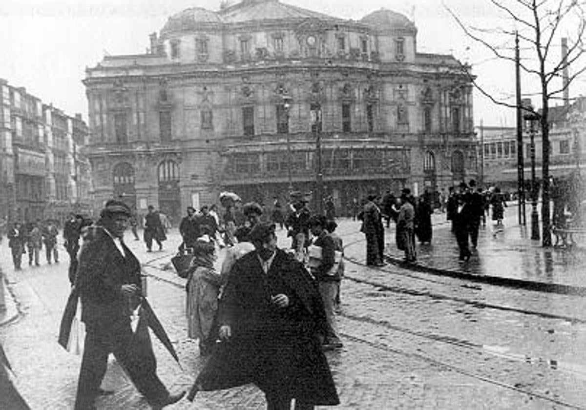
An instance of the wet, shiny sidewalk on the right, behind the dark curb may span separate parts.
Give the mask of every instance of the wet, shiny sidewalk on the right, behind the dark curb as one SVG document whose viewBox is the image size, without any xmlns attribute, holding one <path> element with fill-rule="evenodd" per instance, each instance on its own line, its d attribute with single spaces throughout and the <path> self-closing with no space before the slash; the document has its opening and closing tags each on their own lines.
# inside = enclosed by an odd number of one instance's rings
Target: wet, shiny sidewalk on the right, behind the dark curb
<svg viewBox="0 0 586 410">
<path fill-rule="evenodd" d="M 487 220 L 478 235 L 478 247 L 468 262 L 458 261 L 458 245 L 445 214 L 434 214 L 431 244 L 417 244 L 417 267 L 456 272 L 468 279 L 502 282 L 520 286 L 532 282 L 536 290 L 586 295 L 586 241 L 576 235 L 578 244 L 571 248 L 544 248 L 531 240 L 530 216 L 527 226 L 517 224 L 517 208 L 506 208 L 505 227 L 500 230 Z M 402 261 L 404 253 L 394 245 L 394 227 L 387 237 L 387 255 L 394 262 Z M 555 242 L 555 241 L 554 241 Z M 468 276 L 469 275 L 469 276 Z M 559 285 L 559 286 L 548 286 Z"/>
</svg>

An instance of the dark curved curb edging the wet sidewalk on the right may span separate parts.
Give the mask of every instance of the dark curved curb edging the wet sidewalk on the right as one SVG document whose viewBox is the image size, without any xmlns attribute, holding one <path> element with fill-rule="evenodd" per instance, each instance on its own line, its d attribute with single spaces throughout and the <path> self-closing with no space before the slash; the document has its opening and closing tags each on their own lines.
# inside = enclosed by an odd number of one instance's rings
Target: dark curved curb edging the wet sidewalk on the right
<svg viewBox="0 0 586 410">
<path fill-rule="evenodd" d="M 488 283 L 489 285 L 506 286 L 509 288 L 526 289 L 528 291 L 558 293 L 560 295 L 586 296 L 586 287 L 573 285 L 560 285 L 559 283 L 546 283 L 526 281 L 523 279 L 506 278 L 504 276 L 474 275 L 467 272 L 460 272 L 452 269 L 432 268 L 418 263 L 408 263 L 403 259 L 384 255 L 386 260 L 398 267 L 409 269 L 410 271 L 423 272 L 438 276 L 448 276 L 449 278 L 462 279 L 470 282 Z"/>
</svg>

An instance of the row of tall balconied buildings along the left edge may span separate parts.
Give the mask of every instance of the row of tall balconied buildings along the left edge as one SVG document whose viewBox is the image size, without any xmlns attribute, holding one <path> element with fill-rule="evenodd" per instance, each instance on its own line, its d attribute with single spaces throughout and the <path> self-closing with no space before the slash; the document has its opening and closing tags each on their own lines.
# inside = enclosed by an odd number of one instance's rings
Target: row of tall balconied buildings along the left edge
<svg viewBox="0 0 586 410">
<path fill-rule="evenodd" d="M 81 115 L 69 117 L 6 80 L 0 88 L 0 217 L 62 221 L 71 211 L 89 212 L 90 165 L 76 154 L 88 136 Z"/>
</svg>

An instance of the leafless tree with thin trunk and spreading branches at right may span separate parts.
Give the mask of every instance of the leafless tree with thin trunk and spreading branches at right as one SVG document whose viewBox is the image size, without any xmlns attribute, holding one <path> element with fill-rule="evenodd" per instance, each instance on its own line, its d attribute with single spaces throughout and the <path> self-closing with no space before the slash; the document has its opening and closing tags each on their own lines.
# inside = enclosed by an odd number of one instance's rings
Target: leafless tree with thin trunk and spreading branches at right
<svg viewBox="0 0 586 410">
<path fill-rule="evenodd" d="M 542 176 L 542 240 L 543 246 L 551 246 L 551 223 L 550 223 L 550 140 L 549 140 L 549 114 L 550 101 L 561 98 L 560 95 L 570 84 L 586 71 L 586 64 L 583 64 L 584 43 L 582 36 L 586 30 L 584 0 L 486 0 L 496 10 L 502 12 L 505 20 L 510 23 L 510 28 L 478 28 L 467 25 L 451 9 L 448 12 L 464 30 L 466 35 L 475 42 L 489 50 L 493 56 L 502 60 L 515 62 L 512 53 L 512 39 L 519 37 L 521 49 L 524 51 L 524 58 L 520 62 L 520 69 L 532 78 L 539 80 L 539 91 L 541 98 L 541 110 L 529 112 L 539 118 L 541 138 L 543 141 L 543 176 Z M 562 33 L 563 31 L 563 33 Z M 568 34 L 566 34 L 568 33 Z M 560 37 L 570 37 L 568 40 L 567 53 L 562 57 L 560 53 L 553 55 L 556 48 L 554 42 Z M 505 43 L 502 43 L 502 40 Z M 505 44 L 505 45 L 503 45 Z M 564 72 L 568 69 L 573 72 L 568 76 L 567 81 L 554 84 L 554 80 L 563 78 Z M 471 76 L 474 86 L 495 104 L 505 105 L 510 108 L 517 108 L 516 104 L 499 100 L 479 86 L 478 80 Z M 520 107 L 522 110 L 530 111 L 527 107 Z"/>
</svg>

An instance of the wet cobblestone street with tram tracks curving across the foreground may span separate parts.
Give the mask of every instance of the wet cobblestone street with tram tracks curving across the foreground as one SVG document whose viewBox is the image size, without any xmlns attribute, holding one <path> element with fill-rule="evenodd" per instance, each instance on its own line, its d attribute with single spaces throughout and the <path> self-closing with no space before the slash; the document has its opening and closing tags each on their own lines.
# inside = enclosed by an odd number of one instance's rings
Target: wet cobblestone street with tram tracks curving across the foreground
<svg viewBox="0 0 586 410">
<path fill-rule="evenodd" d="M 438 227 L 442 230 L 445 227 Z M 534 292 L 415 272 L 396 265 L 364 266 L 357 222 L 340 221 L 346 278 L 338 316 L 344 347 L 328 352 L 340 409 L 560 409 L 586 403 L 586 306 L 578 296 Z M 441 237 L 438 231 L 438 237 Z M 128 235 L 127 235 L 128 237 Z M 288 245 L 284 231 L 281 247 Z M 389 249 L 394 231 L 387 230 Z M 190 386 L 202 366 L 196 341 L 186 337 L 183 279 L 166 269 L 179 244 L 147 254 L 148 298 L 178 350 L 183 370 L 154 340 L 159 374 L 172 391 Z M 64 254 L 64 252 L 63 252 Z M 0 330 L 16 384 L 33 409 L 70 409 L 80 357 L 56 343 L 69 292 L 67 256 L 57 265 L 13 272 L 2 248 L 2 268 L 21 312 Z M 147 409 L 112 362 L 99 409 Z M 246 386 L 200 392 L 176 409 L 263 409 L 264 397 Z"/>
</svg>

